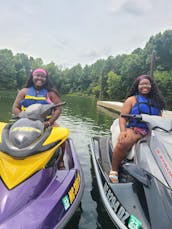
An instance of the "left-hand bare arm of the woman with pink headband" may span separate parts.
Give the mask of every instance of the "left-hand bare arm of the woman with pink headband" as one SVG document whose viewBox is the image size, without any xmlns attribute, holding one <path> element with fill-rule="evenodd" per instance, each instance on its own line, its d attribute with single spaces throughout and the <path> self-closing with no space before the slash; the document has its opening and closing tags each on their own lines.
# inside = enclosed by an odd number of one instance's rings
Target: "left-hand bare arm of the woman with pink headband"
<svg viewBox="0 0 172 229">
<path fill-rule="evenodd" d="M 27 91 L 27 88 L 23 88 L 18 92 L 16 99 L 13 103 L 13 107 L 12 107 L 13 114 L 18 115 L 21 112 L 20 101 L 24 99 L 26 95 L 26 91 Z"/>
</svg>

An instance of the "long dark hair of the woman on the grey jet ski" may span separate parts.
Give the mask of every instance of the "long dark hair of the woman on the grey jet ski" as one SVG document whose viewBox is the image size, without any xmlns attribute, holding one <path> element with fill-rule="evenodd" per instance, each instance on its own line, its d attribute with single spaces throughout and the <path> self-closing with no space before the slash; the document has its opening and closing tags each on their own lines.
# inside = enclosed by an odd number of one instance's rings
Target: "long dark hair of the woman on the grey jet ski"
<svg viewBox="0 0 172 229">
<path fill-rule="evenodd" d="M 148 94 L 149 98 L 151 98 L 152 101 L 155 102 L 155 104 L 158 106 L 158 108 L 161 111 L 164 110 L 166 107 L 166 102 L 165 102 L 161 92 L 159 91 L 157 84 L 152 79 L 152 77 L 150 77 L 149 75 L 141 75 L 141 76 L 138 76 L 136 78 L 136 80 L 132 84 L 132 86 L 131 86 L 128 94 L 127 94 L 127 98 L 130 96 L 134 96 L 134 95 L 139 94 L 139 91 L 138 91 L 139 82 L 143 79 L 148 79 L 151 83 L 151 90 Z"/>
</svg>

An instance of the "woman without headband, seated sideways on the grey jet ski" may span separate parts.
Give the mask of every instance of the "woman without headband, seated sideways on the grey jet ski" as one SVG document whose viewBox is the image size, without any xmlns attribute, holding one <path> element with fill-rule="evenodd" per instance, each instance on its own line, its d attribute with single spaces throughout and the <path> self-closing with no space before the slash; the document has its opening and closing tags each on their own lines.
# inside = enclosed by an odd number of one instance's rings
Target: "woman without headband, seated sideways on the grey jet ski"
<svg viewBox="0 0 172 229">
<path fill-rule="evenodd" d="M 154 80 L 148 75 L 141 75 L 136 78 L 131 86 L 121 109 L 121 114 L 161 115 L 164 108 L 164 98 L 161 96 Z M 120 134 L 113 150 L 112 170 L 109 173 L 112 183 L 118 182 L 119 166 L 127 152 L 139 139 L 148 134 L 146 124 L 135 121 L 127 123 L 123 117 L 119 118 L 119 126 Z"/>
</svg>

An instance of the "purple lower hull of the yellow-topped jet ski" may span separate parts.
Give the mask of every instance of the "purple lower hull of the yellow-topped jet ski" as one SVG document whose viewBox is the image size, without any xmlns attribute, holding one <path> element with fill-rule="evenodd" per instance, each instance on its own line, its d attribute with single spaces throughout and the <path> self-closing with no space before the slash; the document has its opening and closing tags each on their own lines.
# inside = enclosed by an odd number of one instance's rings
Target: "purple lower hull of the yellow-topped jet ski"
<svg viewBox="0 0 172 229">
<path fill-rule="evenodd" d="M 65 166 L 43 168 L 11 190 L 0 180 L 0 228 L 63 228 L 84 190 L 71 139 L 66 140 Z"/>
</svg>

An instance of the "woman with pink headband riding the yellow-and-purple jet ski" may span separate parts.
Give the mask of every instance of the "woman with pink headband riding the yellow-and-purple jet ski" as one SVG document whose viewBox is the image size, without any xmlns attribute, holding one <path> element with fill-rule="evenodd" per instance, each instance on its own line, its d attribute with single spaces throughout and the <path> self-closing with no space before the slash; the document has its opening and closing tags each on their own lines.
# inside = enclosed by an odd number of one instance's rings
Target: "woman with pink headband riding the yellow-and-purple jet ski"
<svg viewBox="0 0 172 229">
<path fill-rule="evenodd" d="M 57 104 L 61 102 L 58 91 L 54 88 L 50 81 L 48 73 L 43 68 L 37 68 L 32 71 L 30 78 L 26 82 L 23 89 L 21 89 L 14 101 L 12 112 L 18 115 L 32 104 Z M 61 107 L 57 107 L 51 114 L 51 118 L 44 122 L 44 127 L 55 125 L 55 121 L 61 114 Z M 63 154 L 64 147 L 62 146 L 62 158 L 59 163 L 60 168 L 64 168 Z"/>
</svg>

